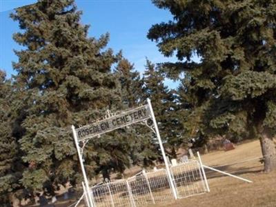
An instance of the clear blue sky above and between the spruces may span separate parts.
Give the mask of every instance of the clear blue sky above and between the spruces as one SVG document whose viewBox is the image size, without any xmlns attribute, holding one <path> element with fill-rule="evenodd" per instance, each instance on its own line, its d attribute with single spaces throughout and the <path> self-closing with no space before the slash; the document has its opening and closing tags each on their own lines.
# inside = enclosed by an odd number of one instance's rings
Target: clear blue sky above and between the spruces
<svg viewBox="0 0 276 207">
<path fill-rule="evenodd" d="M 34 0 L 0 0 L 0 68 L 8 77 L 15 74 L 12 61 L 17 61 L 13 49 L 20 46 L 12 40 L 12 34 L 19 30 L 17 22 L 9 18 L 13 8 L 34 3 Z M 156 8 L 150 0 L 77 0 L 77 7 L 83 11 L 81 22 L 90 25 L 89 36 L 99 37 L 110 33 L 108 47 L 115 52 L 123 50 L 124 57 L 135 63 L 135 69 L 143 72 L 146 57 L 154 63 L 175 61 L 165 58 L 158 51 L 156 43 L 146 38 L 152 24 L 172 19 L 170 12 Z M 166 80 L 170 88 L 177 83 Z"/>
</svg>

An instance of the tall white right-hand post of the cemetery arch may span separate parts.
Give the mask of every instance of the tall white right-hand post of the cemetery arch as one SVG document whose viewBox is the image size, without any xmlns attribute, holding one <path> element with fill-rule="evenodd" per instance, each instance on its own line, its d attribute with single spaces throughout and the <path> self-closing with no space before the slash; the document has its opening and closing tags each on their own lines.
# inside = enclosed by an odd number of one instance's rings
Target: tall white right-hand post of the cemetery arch
<svg viewBox="0 0 276 207">
<path fill-rule="evenodd" d="M 157 121 L 155 119 L 155 113 L 153 112 L 150 99 L 147 99 L 147 101 L 148 101 L 148 106 L 150 108 L 150 116 L 152 117 L 152 121 L 153 121 L 153 124 L 155 126 L 155 132 L 156 132 L 156 136 L 157 136 L 157 139 L 158 139 L 158 142 L 159 142 L 160 150 L 162 152 L 162 156 L 163 156 L 163 159 L 164 159 L 164 162 L 165 162 L 170 187 L 172 188 L 172 195 L 173 195 L 173 197 L 175 197 L 175 199 L 177 199 L 176 186 L 173 183 L 172 174 L 170 173 L 170 167 L 168 166 L 168 160 L 167 160 L 166 153 L 165 153 L 165 150 L 164 150 L 164 147 L 163 147 L 163 143 L 162 143 L 162 140 L 161 140 L 161 137 L 160 137 L 160 134 L 159 134 Z"/>
</svg>

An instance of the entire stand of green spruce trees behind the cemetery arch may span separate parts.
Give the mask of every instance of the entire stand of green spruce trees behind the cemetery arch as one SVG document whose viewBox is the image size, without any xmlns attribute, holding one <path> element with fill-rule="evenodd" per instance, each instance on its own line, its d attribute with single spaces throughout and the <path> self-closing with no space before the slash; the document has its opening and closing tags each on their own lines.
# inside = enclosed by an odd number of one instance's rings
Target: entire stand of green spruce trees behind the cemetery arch
<svg viewBox="0 0 276 207">
<path fill-rule="evenodd" d="M 55 195 L 82 180 L 70 126 L 152 100 L 168 155 L 196 138 L 259 138 L 265 170 L 275 170 L 276 5 L 274 1 L 152 1 L 173 20 L 148 38 L 176 63 L 146 59 L 140 77 L 122 52 L 106 48 L 109 34 L 88 37 L 73 0 L 40 0 L 11 14 L 17 75 L 0 70 L 0 203 Z M 193 57 L 201 61 L 193 61 Z M 180 81 L 177 89 L 166 78 Z M 121 128 L 88 142 L 88 177 L 123 173 L 161 159 L 145 126 Z"/>
</svg>

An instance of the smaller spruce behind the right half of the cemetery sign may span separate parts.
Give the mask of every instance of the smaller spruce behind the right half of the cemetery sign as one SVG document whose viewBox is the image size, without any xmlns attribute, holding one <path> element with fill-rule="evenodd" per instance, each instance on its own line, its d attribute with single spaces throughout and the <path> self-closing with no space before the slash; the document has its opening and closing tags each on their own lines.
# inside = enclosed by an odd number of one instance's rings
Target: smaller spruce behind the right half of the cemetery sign
<svg viewBox="0 0 276 207">
<path fill-rule="evenodd" d="M 145 104 L 144 80 L 140 78 L 134 65 L 123 58 L 119 61 L 115 73 L 121 82 L 121 99 L 124 108 L 136 108 L 140 104 Z M 157 159 L 156 144 L 152 139 L 152 131 L 148 127 L 141 124 L 132 125 L 124 129 L 121 136 L 124 136 L 131 146 L 129 153 L 132 165 L 146 167 L 152 165 L 152 161 Z"/>
</svg>

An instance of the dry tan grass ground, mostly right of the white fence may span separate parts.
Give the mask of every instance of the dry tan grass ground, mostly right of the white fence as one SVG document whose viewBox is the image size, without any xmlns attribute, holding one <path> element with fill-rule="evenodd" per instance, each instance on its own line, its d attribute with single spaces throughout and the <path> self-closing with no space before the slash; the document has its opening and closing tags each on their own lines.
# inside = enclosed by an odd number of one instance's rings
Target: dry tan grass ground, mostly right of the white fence
<svg viewBox="0 0 276 207">
<path fill-rule="evenodd" d="M 204 206 L 204 207 L 232 207 L 232 206 L 276 206 L 276 172 L 264 173 L 263 164 L 257 159 L 262 157 L 259 140 L 249 141 L 236 146 L 235 150 L 225 152 L 217 150 L 202 155 L 201 159 L 206 166 L 230 172 L 253 181 L 248 184 L 239 179 L 221 175 L 217 172 L 206 170 L 206 176 L 210 186 L 210 193 L 168 201 L 164 205 L 168 207 L 180 206 Z M 134 171 L 128 170 L 128 174 Z M 56 207 L 66 207 L 72 204 L 70 201 L 58 201 Z M 83 206 L 83 205 L 79 205 Z M 154 207 L 157 205 L 151 205 Z"/>
</svg>

